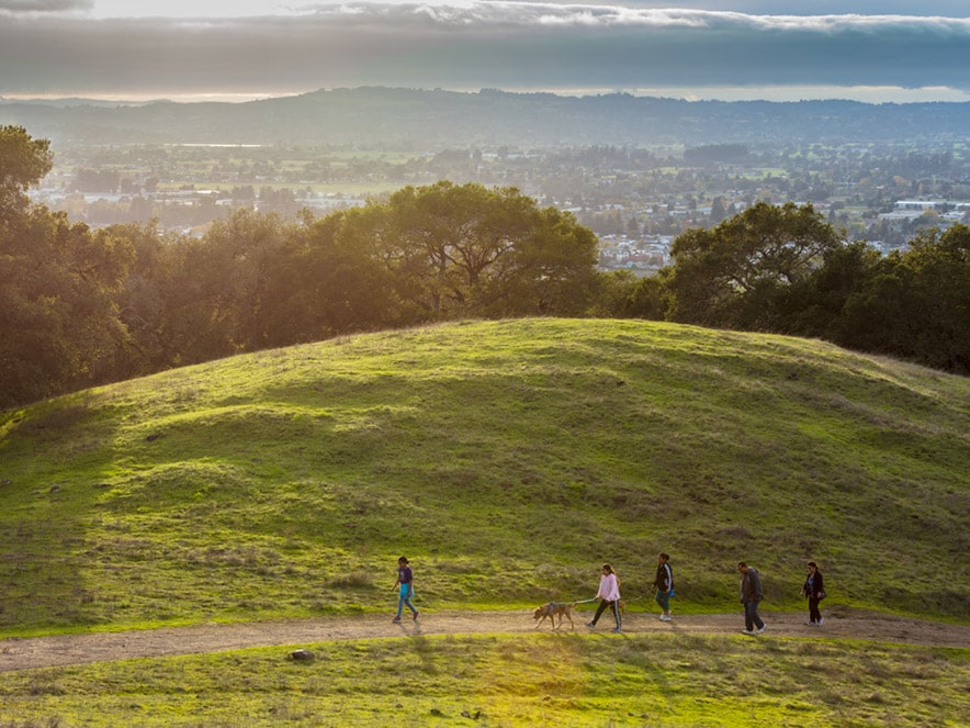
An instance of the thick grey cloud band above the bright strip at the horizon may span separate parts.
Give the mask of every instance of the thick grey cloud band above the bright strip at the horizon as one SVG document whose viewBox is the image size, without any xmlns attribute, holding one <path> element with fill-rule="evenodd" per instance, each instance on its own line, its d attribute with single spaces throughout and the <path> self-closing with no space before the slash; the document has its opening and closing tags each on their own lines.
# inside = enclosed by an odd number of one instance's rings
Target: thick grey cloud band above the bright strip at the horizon
<svg viewBox="0 0 970 728">
<path fill-rule="evenodd" d="M 0 94 L 360 85 L 970 89 L 967 58 L 968 19 L 360 3 L 260 19 L 13 16 L 0 23 Z"/>
</svg>

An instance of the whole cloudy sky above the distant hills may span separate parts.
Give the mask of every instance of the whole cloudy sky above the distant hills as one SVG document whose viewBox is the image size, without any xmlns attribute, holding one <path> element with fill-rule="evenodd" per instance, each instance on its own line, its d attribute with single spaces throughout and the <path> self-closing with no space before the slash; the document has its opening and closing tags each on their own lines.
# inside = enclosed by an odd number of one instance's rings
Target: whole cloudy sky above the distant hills
<svg viewBox="0 0 970 728">
<path fill-rule="evenodd" d="M 970 0 L 0 0 L 0 97 L 970 101 Z"/>
</svg>

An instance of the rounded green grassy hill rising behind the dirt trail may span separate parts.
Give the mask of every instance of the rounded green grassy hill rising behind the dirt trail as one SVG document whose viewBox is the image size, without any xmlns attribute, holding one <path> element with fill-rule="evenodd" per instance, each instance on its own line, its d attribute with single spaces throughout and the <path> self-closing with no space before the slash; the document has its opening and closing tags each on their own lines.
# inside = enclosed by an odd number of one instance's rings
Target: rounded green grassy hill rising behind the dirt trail
<svg viewBox="0 0 970 728">
<path fill-rule="evenodd" d="M 266 351 L 0 415 L 0 634 L 591 597 L 965 618 L 970 380 L 630 321 Z"/>
</svg>

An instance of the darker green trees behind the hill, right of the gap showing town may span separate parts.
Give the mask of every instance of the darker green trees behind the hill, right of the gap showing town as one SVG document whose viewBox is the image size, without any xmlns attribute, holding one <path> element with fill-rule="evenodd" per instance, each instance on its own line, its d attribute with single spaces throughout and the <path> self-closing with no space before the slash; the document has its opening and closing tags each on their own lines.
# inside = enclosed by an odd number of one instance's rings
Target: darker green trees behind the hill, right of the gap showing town
<svg viewBox="0 0 970 728">
<path fill-rule="evenodd" d="M 970 373 L 970 226 L 881 255 L 811 204 L 760 202 L 690 229 L 657 277 L 620 277 L 614 315 L 822 338 Z"/>
</svg>

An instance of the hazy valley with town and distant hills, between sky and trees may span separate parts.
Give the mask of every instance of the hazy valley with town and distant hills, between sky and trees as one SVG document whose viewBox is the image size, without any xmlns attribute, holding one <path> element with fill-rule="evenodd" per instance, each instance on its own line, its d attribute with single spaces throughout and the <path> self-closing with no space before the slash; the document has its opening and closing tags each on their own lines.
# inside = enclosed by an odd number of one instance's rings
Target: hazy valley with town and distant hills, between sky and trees
<svg viewBox="0 0 970 728">
<path fill-rule="evenodd" d="M 0 103 L 53 141 L 34 192 L 94 226 L 199 235 L 233 210 L 292 217 L 440 179 L 575 213 L 606 268 L 648 273 L 674 237 L 755 201 L 812 203 L 883 251 L 970 220 L 970 103 L 687 102 L 361 88 L 230 103 Z"/>
</svg>

